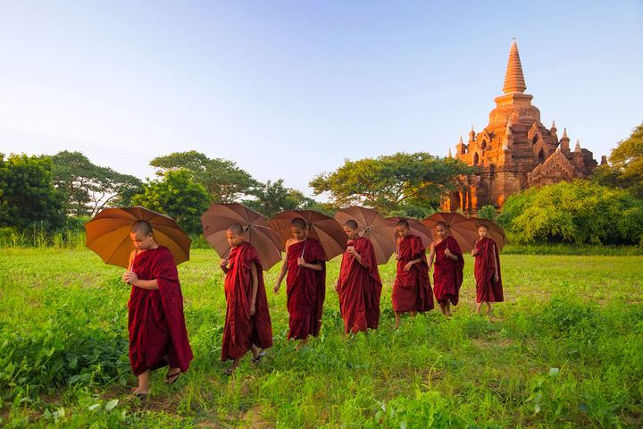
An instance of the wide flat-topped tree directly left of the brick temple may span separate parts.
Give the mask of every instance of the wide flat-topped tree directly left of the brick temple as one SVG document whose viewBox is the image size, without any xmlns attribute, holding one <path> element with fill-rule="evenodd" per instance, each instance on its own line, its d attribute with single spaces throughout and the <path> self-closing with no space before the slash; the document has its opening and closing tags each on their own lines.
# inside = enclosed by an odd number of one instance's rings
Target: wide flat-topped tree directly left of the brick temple
<svg viewBox="0 0 643 429">
<path fill-rule="evenodd" d="M 454 158 L 403 152 L 359 161 L 345 160 L 336 172 L 310 181 L 314 194 L 330 192 L 335 206 L 372 206 L 384 214 L 402 204 L 438 205 L 440 197 L 459 186 L 459 176 L 472 168 Z"/>
</svg>

